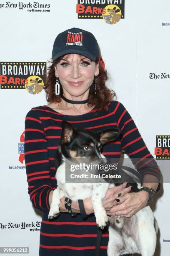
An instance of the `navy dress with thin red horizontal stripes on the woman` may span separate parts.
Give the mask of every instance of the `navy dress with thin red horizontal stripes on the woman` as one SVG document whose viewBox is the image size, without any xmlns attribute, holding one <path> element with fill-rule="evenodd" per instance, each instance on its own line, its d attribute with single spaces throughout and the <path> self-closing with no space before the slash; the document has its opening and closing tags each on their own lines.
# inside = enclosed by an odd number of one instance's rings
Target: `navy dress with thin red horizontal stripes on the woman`
<svg viewBox="0 0 170 256">
<path fill-rule="evenodd" d="M 94 214 L 82 220 L 67 212 L 48 220 L 49 193 L 57 187 L 54 155 L 60 145 L 61 122 L 66 120 L 75 128 L 101 131 L 120 128 L 120 137 L 103 146 L 105 157 L 120 158 L 122 148 L 133 158 L 150 158 L 152 167 L 142 168 L 141 174 L 153 174 L 160 179 L 160 171 L 148 151 L 138 128 L 125 107 L 118 101 L 107 102 L 105 109 L 94 108 L 83 115 L 63 115 L 47 106 L 32 108 L 25 118 L 25 166 L 28 193 L 35 208 L 42 211 L 40 228 L 40 256 L 94 256 L 97 225 Z M 133 162 L 133 164 L 136 164 Z M 108 231 L 102 234 L 100 255 L 107 255 Z"/>
</svg>

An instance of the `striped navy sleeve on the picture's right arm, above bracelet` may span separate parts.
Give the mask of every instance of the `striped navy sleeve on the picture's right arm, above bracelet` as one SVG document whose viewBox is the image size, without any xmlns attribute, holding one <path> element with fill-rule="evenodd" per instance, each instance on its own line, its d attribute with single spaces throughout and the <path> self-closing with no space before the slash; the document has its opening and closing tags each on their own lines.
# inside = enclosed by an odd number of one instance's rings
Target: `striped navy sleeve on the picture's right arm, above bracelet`
<svg viewBox="0 0 170 256">
<path fill-rule="evenodd" d="M 145 145 L 132 117 L 122 103 L 117 102 L 116 108 L 117 126 L 121 131 L 120 136 L 123 150 L 130 156 L 142 177 L 145 174 L 151 174 L 160 181 L 160 169 Z"/>
</svg>

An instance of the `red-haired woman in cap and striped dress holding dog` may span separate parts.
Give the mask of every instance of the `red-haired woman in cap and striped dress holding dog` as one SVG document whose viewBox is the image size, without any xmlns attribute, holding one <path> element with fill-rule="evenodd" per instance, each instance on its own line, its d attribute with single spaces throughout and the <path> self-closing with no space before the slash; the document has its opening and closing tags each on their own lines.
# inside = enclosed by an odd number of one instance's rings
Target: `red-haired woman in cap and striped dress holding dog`
<svg viewBox="0 0 170 256">
<path fill-rule="evenodd" d="M 60 215 L 48 220 L 55 179 L 54 156 L 60 145 L 61 122 L 66 120 L 75 128 L 101 131 L 120 128 L 121 135 L 103 146 L 105 157 L 120 158 L 122 148 L 133 164 L 148 158 L 152 168 L 143 167 L 143 187 L 158 189 L 160 172 L 138 129 L 125 107 L 111 101 L 111 92 L 104 82 L 105 71 L 95 37 L 88 31 L 71 28 L 60 33 L 52 50 L 47 86 L 47 106 L 32 108 L 25 119 L 25 164 L 28 193 L 35 208 L 43 212 L 40 230 L 40 256 L 95 255 L 97 226 L 91 198 L 83 200 L 87 218 L 80 214 L 71 217 L 61 199 Z M 150 182 L 149 178 L 152 178 Z M 115 218 L 129 218 L 148 203 L 149 192 L 128 193 L 126 183 L 108 190 L 103 206 Z M 117 194 L 120 202 L 116 202 Z M 80 213 L 78 202 L 72 202 L 72 212 Z M 107 255 L 109 234 L 105 230 L 100 244 L 100 255 Z"/>
</svg>

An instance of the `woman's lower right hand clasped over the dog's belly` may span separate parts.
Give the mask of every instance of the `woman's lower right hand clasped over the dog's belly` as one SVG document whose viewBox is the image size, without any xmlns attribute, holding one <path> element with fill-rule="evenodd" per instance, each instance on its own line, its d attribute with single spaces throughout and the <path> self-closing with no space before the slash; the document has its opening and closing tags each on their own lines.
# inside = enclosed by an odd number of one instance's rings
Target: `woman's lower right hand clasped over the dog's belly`
<svg viewBox="0 0 170 256">
<path fill-rule="evenodd" d="M 133 214 L 147 205 L 148 198 L 149 193 L 146 191 L 127 193 L 126 195 L 120 196 L 120 202 L 116 202 L 115 206 L 106 211 L 107 215 L 110 215 L 113 218 L 116 218 L 117 215 L 130 218 Z"/>
</svg>

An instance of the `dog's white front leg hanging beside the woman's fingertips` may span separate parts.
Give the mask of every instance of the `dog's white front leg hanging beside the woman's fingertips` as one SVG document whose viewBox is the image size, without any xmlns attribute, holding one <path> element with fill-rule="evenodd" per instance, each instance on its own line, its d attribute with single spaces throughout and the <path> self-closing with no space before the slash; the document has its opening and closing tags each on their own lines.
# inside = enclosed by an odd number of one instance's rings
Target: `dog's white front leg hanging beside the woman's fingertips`
<svg viewBox="0 0 170 256">
<path fill-rule="evenodd" d="M 93 184 L 92 205 L 94 208 L 96 223 L 101 229 L 103 229 L 108 223 L 108 216 L 106 214 L 105 208 L 102 206 L 102 200 L 105 197 L 108 188 L 108 183 Z"/>
</svg>

